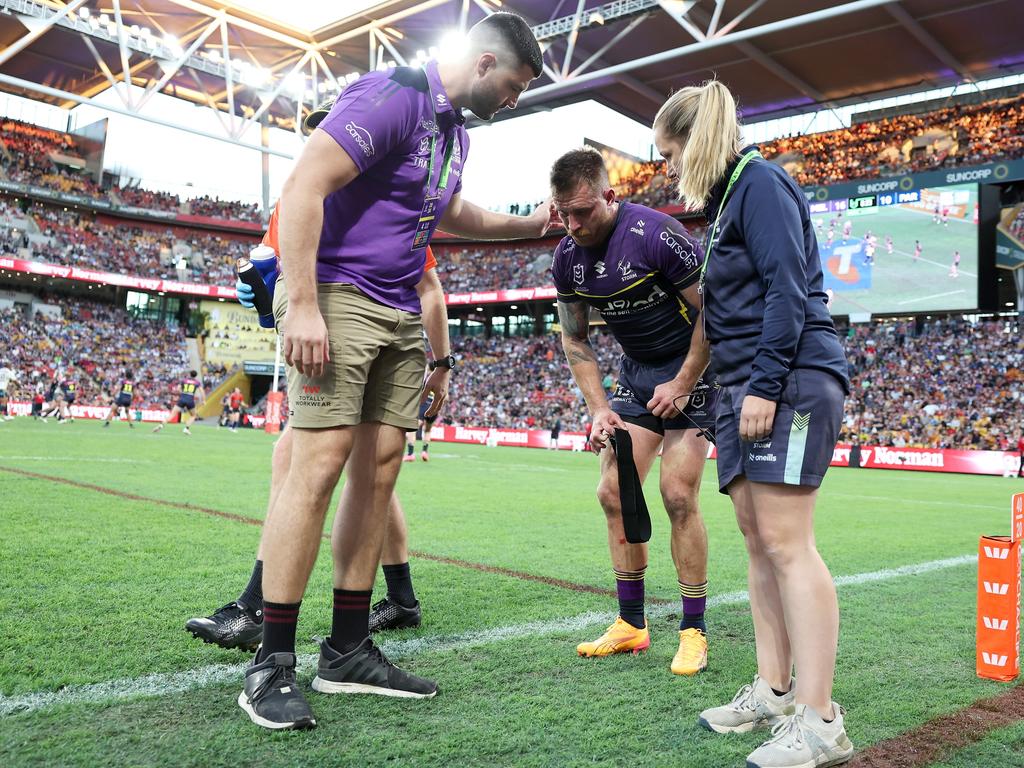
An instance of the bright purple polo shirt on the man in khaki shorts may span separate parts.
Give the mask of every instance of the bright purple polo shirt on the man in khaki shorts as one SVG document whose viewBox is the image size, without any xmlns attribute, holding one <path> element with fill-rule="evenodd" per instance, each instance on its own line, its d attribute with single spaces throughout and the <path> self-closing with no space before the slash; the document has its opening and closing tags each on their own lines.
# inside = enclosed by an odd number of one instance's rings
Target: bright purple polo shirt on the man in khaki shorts
<svg viewBox="0 0 1024 768">
<path fill-rule="evenodd" d="M 318 282 L 351 283 L 382 304 L 419 313 L 416 284 L 423 276 L 426 245 L 462 188 L 469 152 L 464 122 L 461 111 L 449 102 L 436 61 L 422 70 L 371 72 L 342 92 L 318 130 L 341 145 L 359 175 L 324 201 Z M 436 145 L 429 194 L 437 201 L 429 213 L 433 218 L 421 224 L 432 135 Z M 450 145 L 451 174 L 439 190 Z M 419 238 L 418 228 L 426 229 Z"/>
</svg>

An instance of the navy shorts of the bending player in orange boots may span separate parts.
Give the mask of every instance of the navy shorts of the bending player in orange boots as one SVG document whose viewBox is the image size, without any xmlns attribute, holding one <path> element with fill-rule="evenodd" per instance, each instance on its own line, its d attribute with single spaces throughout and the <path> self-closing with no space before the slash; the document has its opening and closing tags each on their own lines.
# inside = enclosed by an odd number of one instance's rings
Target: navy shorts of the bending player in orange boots
<svg viewBox="0 0 1024 768">
<path fill-rule="evenodd" d="M 618 361 L 618 381 L 611 393 L 608 404 L 626 421 L 632 421 L 658 434 L 667 429 L 706 429 L 715 432 L 715 410 L 721 388 L 718 382 L 703 377 L 693 387 L 689 403 L 683 416 L 658 419 L 647 410 L 647 403 L 654 396 L 654 387 L 671 381 L 683 367 L 683 357 L 651 365 L 639 362 L 625 354 Z"/>
</svg>

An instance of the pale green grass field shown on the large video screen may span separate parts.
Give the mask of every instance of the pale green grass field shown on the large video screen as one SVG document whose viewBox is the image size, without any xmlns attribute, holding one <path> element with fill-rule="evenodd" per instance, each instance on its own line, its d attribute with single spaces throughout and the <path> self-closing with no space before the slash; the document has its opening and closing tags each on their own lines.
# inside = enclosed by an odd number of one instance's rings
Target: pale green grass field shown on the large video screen
<svg viewBox="0 0 1024 768">
<path fill-rule="evenodd" d="M 825 288 L 836 294 L 833 313 L 850 312 L 922 312 L 939 309 L 973 309 L 978 306 L 978 225 L 971 211 L 978 200 L 977 184 L 943 187 L 947 194 L 968 198 L 961 206 L 966 218 L 949 217 L 949 223 L 935 223 L 931 213 L 910 205 L 871 208 L 863 215 L 844 216 L 836 227 L 833 246 L 826 246 L 818 233 Z M 926 190 L 928 191 L 928 190 Z M 857 212 L 853 212 L 854 214 Z M 816 214 L 823 222 L 835 214 Z M 853 230 L 844 242 L 842 222 L 850 221 Z M 864 264 L 864 237 L 870 231 L 878 238 L 874 263 Z M 886 236 L 893 239 L 893 253 L 886 250 Z M 921 242 L 922 254 L 913 259 L 914 241 Z M 838 273 L 844 248 L 857 247 L 850 269 Z M 949 275 L 953 251 L 961 252 L 959 276 Z"/>
</svg>

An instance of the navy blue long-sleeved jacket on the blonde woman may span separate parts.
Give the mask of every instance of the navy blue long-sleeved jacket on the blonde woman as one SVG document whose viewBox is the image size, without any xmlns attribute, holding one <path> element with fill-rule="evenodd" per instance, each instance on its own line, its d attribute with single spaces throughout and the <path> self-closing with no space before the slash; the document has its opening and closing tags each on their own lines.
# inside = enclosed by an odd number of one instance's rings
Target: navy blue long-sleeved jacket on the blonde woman
<svg viewBox="0 0 1024 768">
<path fill-rule="evenodd" d="M 738 161 L 712 189 L 709 232 Z M 708 260 L 703 300 L 712 367 L 722 385 L 749 381 L 748 394 L 777 402 L 790 371 L 811 368 L 833 374 L 849 392 L 810 209 L 779 166 L 755 159 L 733 184 Z"/>
</svg>

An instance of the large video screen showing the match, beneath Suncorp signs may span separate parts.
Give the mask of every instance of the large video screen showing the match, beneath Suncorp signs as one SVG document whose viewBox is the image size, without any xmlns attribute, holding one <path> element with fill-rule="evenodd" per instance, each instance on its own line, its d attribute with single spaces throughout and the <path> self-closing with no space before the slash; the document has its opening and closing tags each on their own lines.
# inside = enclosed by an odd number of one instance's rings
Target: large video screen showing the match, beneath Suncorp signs
<svg viewBox="0 0 1024 768">
<path fill-rule="evenodd" d="M 977 308 L 977 184 L 810 206 L 834 314 Z"/>
</svg>

